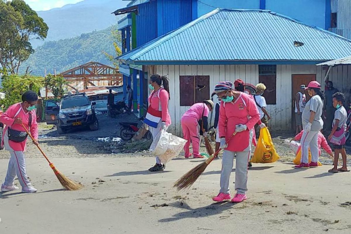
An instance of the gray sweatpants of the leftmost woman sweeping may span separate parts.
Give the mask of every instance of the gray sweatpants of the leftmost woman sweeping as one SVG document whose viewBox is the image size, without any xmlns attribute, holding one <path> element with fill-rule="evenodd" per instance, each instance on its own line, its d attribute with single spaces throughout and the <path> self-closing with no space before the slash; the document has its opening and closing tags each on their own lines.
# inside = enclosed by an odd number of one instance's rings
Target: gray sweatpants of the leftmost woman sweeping
<svg viewBox="0 0 351 234">
<path fill-rule="evenodd" d="M 7 131 L 4 134 L 4 145 L 5 149 L 11 154 L 10 161 L 8 163 L 7 174 L 4 181 L 4 185 L 12 186 L 15 181 L 15 176 L 17 175 L 18 181 L 22 187 L 31 185 L 26 173 L 26 160 L 24 152 L 14 151 L 8 144 Z"/>
</svg>

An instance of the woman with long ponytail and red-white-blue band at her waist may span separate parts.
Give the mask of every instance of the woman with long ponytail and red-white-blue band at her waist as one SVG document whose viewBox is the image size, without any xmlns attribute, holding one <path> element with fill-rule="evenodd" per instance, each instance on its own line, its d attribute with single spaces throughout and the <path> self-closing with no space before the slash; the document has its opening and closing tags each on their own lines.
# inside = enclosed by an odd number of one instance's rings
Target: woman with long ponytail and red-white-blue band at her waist
<svg viewBox="0 0 351 234">
<path fill-rule="evenodd" d="M 144 123 L 149 126 L 152 138 L 155 138 L 161 130 L 166 131 L 171 125 L 171 116 L 168 111 L 168 100 L 170 100 L 170 88 L 166 76 L 152 75 L 149 81 L 149 88 L 152 90 L 148 98 L 148 109 Z M 150 150 L 153 150 L 152 144 Z M 149 171 L 163 171 L 166 168 L 156 156 L 156 164 Z"/>
</svg>

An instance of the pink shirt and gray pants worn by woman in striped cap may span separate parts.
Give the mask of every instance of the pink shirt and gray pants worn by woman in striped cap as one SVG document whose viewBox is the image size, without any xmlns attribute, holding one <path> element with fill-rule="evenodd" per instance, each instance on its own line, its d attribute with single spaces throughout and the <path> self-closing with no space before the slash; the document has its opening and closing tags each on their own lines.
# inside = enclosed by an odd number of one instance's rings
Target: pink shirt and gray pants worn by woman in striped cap
<svg viewBox="0 0 351 234">
<path fill-rule="evenodd" d="M 253 127 L 260 120 L 255 101 L 251 95 L 240 93 L 233 102 L 221 102 L 219 111 L 219 133 L 229 139 L 235 132 L 236 125 L 243 124 L 247 130 L 237 133 L 228 143 L 223 153 L 220 192 L 229 193 L 229 179 L 236 155 L 235 189 L 237 193 L 247 191 L 247 166 L 251 155 Z"/>
</svg>

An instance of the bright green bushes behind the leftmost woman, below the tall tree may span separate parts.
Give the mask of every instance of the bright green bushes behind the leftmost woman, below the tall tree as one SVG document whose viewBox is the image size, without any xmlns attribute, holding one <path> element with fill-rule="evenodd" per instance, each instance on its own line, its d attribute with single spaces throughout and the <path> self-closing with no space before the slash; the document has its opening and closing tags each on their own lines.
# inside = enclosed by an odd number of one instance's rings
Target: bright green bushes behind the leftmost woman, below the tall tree
<svg viewBox="0 0 351 234">
<path fill-rule="evenodd" d="M 21 102 L 22 94 L 28 90 L 39 93 L 39 89 L 44 86 L 44 78 L 31 75 L 8 75 L 2 71 L 1 92 L 5 93 L 5 99 L 0 100 L 0 104 L 5 108 Z"/>
</svg>

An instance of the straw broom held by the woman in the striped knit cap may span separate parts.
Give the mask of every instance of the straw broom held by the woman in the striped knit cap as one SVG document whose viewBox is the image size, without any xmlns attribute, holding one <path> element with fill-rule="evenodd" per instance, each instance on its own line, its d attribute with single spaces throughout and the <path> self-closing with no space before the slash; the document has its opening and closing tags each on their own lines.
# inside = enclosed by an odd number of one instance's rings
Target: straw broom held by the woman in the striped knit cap
<svg viewBox="0 0 351 234">
<path fill-rule="evenodd" d="M 234 132 L 233 135 L 230 136 L 230 138 L 226 141 L 226 144 L 229 143 L 229 141 L 237 134 L 237 132 Z M 206 139 L 206 138 L 205 138 Z M 205 141 L 206 142 L 206 141 Z M 187 173 L 185 173 L 179 180 L 177 180 L 173 187 L 177 188 L 177 190 L 185 189 L 193 185 L 193 183 L 199 178 L 199 176 L 205 171 L 207 166 L 213 161 L 214 158 L 218 155 L 218 153 L 221 151 L 221 148 L 216 151 L 216 153 L 211 154 L 211 156 L 206 159 L 206 161 L 200 163 Z"/>
</svg>

